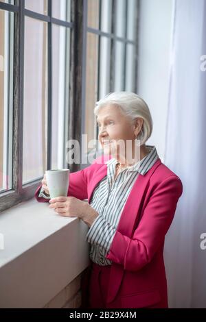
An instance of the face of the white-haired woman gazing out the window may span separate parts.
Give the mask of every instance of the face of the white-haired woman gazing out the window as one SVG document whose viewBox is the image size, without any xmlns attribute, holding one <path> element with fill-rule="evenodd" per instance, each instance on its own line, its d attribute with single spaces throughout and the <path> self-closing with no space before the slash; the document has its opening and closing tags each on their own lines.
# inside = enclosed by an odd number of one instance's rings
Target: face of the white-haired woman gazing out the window
<svg viewBox="0 0 206 322">
<path fill-rule="evenodd" d="M 115 104 L 100 108 L 98 113 L 99 141 L 104 153 L 119 155 L 117 141 L 135 140 L 135 125 Z"/>
</svg>

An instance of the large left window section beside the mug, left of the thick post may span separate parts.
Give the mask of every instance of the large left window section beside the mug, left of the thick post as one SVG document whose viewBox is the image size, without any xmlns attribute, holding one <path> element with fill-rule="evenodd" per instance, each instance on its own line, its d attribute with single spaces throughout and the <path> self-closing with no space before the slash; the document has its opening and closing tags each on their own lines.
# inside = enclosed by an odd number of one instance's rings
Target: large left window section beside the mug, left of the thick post
<svg viewBox="0 0 206 322">
<path fill-rule="evenodd" d="M 68 166 L 71 2 L 0 1 L 1 211 L 34 197 L 46 169 Z"/>
</svg>

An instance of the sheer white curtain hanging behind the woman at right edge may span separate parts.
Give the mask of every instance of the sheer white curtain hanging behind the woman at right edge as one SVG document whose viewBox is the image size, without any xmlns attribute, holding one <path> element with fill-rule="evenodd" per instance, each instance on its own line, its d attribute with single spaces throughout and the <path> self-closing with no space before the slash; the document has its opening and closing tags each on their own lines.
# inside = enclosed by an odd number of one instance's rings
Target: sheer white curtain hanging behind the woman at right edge
<svg viewBox="0 0 206 322">
<path fill-rule="evenodd" d="M 176 0 L 164 163 L 183 182 L 165 239 L 170 308 L 206 308 L 206 1 Z"/>
</svg>

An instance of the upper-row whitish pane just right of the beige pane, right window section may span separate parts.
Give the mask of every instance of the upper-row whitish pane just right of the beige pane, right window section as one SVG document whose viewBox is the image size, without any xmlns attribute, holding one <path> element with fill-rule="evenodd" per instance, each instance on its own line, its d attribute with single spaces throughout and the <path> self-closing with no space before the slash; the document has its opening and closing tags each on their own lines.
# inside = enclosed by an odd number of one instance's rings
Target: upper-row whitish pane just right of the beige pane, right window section
<svg viewBox="0 0 206 322">
<path fill-rule="evenodd" d="M 101 30 L 102 32 L 111 33 L 111 16 L 113 1 L 104 0 L 101 3 Z"/>
</svg>

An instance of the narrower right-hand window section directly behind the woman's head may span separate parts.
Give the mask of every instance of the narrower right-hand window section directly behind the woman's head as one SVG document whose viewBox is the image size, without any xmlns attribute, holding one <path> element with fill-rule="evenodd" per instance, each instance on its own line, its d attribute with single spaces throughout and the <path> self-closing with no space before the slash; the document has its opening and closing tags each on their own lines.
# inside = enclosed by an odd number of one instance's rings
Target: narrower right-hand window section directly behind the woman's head
<svg viewBox="0 0 206 322">
<path fill-rule="evenodd" d="M 85 119 L 88 140 L 97 138 L 95 101 L 113 91 L 137 91 L 137 0 L 88 0 Z"/>
</svg>

